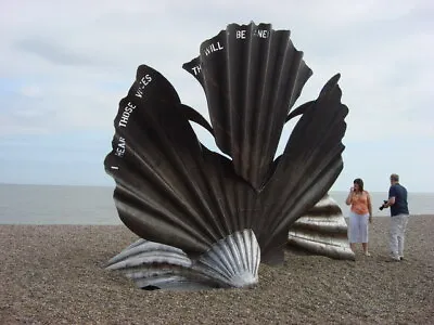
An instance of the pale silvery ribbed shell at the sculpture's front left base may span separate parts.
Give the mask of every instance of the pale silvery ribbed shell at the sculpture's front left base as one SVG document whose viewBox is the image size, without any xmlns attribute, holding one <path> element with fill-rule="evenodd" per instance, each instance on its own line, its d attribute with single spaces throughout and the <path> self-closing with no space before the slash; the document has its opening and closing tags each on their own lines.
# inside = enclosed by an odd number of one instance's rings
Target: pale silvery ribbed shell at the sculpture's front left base
<svg viewBox="0 0 434 325">
<path fill-rule="evenodd" d="M 251 287 L 258 282 L 260 249 L 252 230 L 235 232 L 191 260 L 181 249 L 139 239 L 108 261 L 141 288 Z"/>
</svg>

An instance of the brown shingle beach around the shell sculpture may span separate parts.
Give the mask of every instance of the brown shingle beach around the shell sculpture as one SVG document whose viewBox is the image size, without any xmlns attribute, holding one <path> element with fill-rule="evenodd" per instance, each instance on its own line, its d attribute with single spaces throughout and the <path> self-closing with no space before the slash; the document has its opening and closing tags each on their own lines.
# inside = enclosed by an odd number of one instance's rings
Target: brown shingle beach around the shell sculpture
<svg viewBox="0 0 434 325">
<path fill-rule="evenodd" d="M 146 291 L 103 269 L 137 239 L 124 225 L 0 225 L 0 324 L 434 324 L 434 216 L 410 219 L 387 262 L 388 218 L 371 257 L 286 252 L 253 289 Z"/>
</svg>

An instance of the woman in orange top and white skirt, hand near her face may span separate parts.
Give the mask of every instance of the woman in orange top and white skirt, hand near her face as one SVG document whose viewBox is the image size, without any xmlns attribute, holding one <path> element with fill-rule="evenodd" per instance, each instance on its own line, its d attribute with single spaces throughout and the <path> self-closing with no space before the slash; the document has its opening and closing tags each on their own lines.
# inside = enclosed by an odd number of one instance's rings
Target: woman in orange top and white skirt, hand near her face
<svg viewBox="0 0 434 325">
<path fill-rule="evenodd" d="M 361 243 L 366 256 L 368 251 L 368 220 L 372 222 L 372 206 L 369 193 L 363 190 L 361 179 L 354 180 L 354 186 L 349 190 L 345 203 L 350 207 L 349 211 L 349 246 L 355 251 L 356 243 Z"/>
</svg>

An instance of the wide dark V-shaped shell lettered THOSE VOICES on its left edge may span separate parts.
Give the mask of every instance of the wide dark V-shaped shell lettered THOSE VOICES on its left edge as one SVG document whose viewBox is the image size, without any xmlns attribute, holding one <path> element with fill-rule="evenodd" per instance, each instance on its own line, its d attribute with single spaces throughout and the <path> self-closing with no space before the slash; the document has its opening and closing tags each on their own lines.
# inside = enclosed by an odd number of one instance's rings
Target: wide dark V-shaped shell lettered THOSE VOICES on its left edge
<svg viewBox="0 0 434 325">
<path fill-rule="evenodd" d="M 144 84 L 146 78 L 152 81 Z M 113 151 L 105 159 L 116 180 L 120 219 L 139 236 L 187 253 L 205 252 L 218 239 L 252 229 L 264 261 L 281 262 L 289 227 L 342 170 L 347 108 L 337 80 L 294 110 L 303 108 L 302 118 L 258 193 L 235 173 L 232 161 L 200 144 L 170 83 L 140 66 L 120 101 Z"/>
</svg>

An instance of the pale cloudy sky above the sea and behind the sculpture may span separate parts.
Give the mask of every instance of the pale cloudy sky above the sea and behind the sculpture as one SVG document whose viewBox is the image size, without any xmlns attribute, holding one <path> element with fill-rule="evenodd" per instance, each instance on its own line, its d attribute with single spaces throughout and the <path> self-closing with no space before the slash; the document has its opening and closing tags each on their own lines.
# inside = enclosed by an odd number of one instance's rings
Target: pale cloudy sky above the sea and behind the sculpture
<svg viewBox="0 0 434 325">
<path fill-rule="evenodd" d="M 384 192 L 395 172 L 409 191 L 434 192 L 432 0 L 0 0 L 0 183 L 114 185 L 103 160 L 137 67 L 157 69 L 209 119 L 181 66 L 228 24 L 251 21 L 290 29 L 314 70 L 295 106 L 342 75 L 349 114 L 332 191 L 362 178 Z"/>
</svg>

